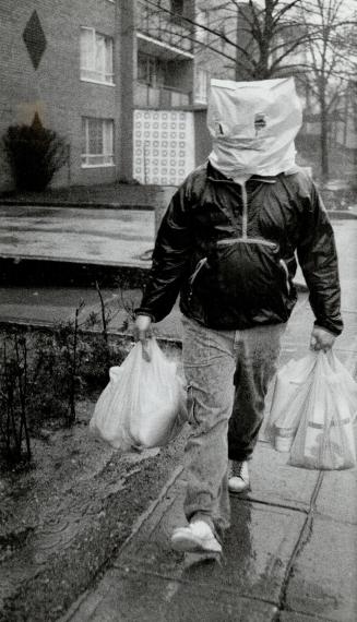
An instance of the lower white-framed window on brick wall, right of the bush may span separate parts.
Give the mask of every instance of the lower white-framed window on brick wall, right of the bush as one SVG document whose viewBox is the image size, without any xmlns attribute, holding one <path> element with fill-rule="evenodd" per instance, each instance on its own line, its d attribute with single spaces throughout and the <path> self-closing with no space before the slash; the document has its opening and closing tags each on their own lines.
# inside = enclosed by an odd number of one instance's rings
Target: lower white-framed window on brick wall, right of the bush
<svg viewBox="0 0 357 622">
<path fill-rule="evenodd" d="M 114 165 L 112 119 L 82 118 L 82 167 Z"/>
</svg>

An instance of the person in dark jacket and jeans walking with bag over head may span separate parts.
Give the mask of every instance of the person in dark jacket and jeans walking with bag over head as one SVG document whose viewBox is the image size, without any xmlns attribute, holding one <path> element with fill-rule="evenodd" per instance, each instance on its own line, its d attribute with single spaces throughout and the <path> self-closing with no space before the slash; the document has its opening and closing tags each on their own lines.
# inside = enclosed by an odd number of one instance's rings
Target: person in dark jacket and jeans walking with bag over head
<svg viewBox="0 0 357 622">
<path fill-rule="evenodd" d="M 212 81 L 207 125 L 213 149 L 164 215 L 134 330 L 145 347 L 152 324 L 180 296 L 188 525 L 174 530 L 171 545 L 219 553 L 228 493 L 250 488 L 267 385 L 297 300 L 296 254 L 316 318 L 310 347 L 331 348 L 343 323 L 333 230 L 313 181 L 295 164 L 294 79 Z"/>
</svg>

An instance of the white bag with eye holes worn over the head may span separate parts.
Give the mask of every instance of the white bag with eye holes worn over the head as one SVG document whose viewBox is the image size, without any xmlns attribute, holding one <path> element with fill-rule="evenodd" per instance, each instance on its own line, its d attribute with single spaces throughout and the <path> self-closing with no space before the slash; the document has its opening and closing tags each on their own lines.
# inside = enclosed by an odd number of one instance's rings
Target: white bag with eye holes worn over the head
<svg viewBox="0 0 357 622">
<path fill-rule="evenodd" d="M 228 178 L 274 176 L 295 167 L 302 109 L 293 77 L 212 80 L 207 127 L 211 164 Z"/>
</svg>

